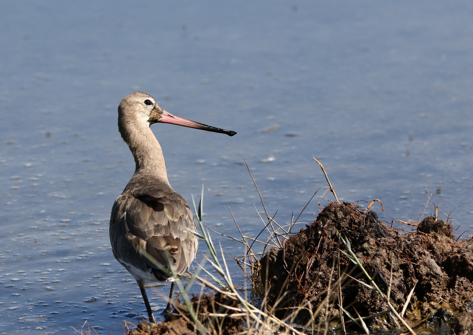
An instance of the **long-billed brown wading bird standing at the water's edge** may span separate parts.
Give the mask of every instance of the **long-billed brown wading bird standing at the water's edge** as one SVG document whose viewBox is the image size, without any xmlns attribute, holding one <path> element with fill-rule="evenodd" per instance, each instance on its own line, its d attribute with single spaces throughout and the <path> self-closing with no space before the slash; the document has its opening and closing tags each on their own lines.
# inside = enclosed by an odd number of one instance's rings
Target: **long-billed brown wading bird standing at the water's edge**
<svg viewBox="0 0 473 335">
<path fill-rule="evenodd" d="M 198 238 L 194 234 L 197 228 L 189 205 L 167 179 L 161 146 L 150 129 L 153 123 L 177 124 L 229 136 L 236 132 L 168 113 L 144 92 L 124 97 L 118 106 L 118 130 L 133 154 L 136 167 L 112 207 L 110 242 L 117 261 L 140 287 L 149 322 L 156 323 L 145 285 L 171 282 L 164 311 L 168 315 L 175 275 L 189 268 L 197 255 Z"/>
</svg>

